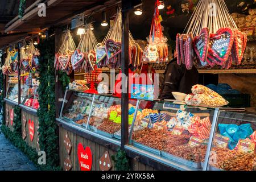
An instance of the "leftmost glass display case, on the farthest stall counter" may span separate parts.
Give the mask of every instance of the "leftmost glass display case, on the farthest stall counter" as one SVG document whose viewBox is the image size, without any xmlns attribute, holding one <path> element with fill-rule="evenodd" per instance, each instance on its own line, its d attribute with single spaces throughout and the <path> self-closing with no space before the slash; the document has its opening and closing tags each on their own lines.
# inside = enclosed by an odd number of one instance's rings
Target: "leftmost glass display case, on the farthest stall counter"
<svg viewBox="0 0 256 182">
<path fill-rule="evenodd" d="M 13 75 L 8 77 L 6 99 L 18 103 L 19 96 L 19 84 L 18 75 Z"/>
</svg>

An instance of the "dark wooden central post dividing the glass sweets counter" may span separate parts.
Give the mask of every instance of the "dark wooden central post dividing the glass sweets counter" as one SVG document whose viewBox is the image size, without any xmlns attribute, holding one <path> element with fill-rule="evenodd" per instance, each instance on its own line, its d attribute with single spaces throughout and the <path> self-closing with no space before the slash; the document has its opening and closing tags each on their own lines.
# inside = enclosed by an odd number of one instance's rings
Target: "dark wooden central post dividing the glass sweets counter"
<svg viewBox="0 0 256 182">
<path fill-rule="evenodd" d="M 129 83 L 129 12 L 125 10 L 125 0 L 122 0 L 122 53 L 121 53 L 121 71 L 126 75 L 126 85 L 122 84 L 122 97 L 121 97 L 121 149 L 125 149 L 125 145 L 128 144 L 128 104 L 129 104 L 129 94 L 128 94 L 128 83 Z M 124 92 L 125 91 L 125 92 Z"/>
</svg>

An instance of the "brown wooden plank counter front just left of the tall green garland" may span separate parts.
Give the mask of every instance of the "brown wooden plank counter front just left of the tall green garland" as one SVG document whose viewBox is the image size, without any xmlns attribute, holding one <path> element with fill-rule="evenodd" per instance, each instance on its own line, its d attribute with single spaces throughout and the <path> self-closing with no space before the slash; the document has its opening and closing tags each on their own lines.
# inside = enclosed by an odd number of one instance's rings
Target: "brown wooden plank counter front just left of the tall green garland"
<svg viewBox="0 0 256 182">
<path fill-rule="evenodd" d="M 38 123 L 38 117 L 36 115 L 32 115 L 30 113 L 27 113 L 26 111 L 22 110 L 22 115 L 21 115 L 21 121 L 22 122 L 22 118 L 23 118 L 23 114 L 25 115 L 26 117 L 26 135 L 27 137 L 24 139 L 26 141 L 26 143 L 35 148 L 36 151 L 39 151 L 39 147 L 38 147 L 38 144 L 36 143 L 38 141 L 38 130 L 37 130 L 37 127 L 39 127 L 39 123 Z M 35 133 L 34 133 L 34 139 L 31 141 L 30 140 L 30 133 L 28 131 L 28 120 L 31 119 L 32 121 L 34 121 L 34 127 L 35 127 Z M 23 126 L 22 126 L 22 131 L 23 131 Z"/>
</svg>

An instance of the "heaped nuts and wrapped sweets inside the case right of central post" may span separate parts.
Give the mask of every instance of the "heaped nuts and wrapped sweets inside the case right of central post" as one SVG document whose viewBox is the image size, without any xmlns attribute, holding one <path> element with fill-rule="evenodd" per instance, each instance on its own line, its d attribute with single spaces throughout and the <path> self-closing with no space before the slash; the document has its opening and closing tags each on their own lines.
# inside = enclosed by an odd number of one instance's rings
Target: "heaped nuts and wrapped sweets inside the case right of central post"
<svg viewBox="0 0 256 182">
<path fill-rule="evenodd" d="M 153 117 L 153 115 L 158 115 L 158 117 Z M 149 113 L 141 121 L 138 121 L 138 126 L 141 129 L 134 130 L 133 142 L 159 150 L 161 151 L 160 155 L 164 157 L 167 154 L 172 158 L 204 163 L 212 127 L 209 117 L 200 118 L 196 114 L 182 110 L 177 111 L 176 117 L 171 117 L 162 111 L 161 113 Z M 237 130 L 233 127 L 232 125 L 219 125 L 220 133 L 216 133 L 214 138 L 209 164 L 222 170 L 253 170 L 256 160 L 254 152 L 256 131 L 253 133 L 250 124 L 237 126 Z M 232 142 L 229 143 L 229 140 L 227 142 L 226 136 L 231 137 L 230 134 L 233 137 L 230 141 L 234 142 L 234 138 L 236 139 L 236 148 L 229 147 Z M 244 142 L 243 139 L 247 142 Z M 246 151 L 244 147 L 243 150 L 241 149 L 241 146 L 247 146 L 249 143 L 251 143 L 249 151 Z"/>
</svg>

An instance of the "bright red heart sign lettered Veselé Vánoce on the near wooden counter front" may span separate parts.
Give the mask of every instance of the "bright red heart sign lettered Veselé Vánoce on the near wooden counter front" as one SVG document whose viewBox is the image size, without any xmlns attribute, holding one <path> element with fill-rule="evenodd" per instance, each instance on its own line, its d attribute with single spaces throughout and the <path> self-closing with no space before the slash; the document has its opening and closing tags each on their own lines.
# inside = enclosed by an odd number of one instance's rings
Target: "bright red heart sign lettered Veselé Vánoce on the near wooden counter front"
<svg viewBox="0 0 256 182">
<path fill-rule="evenodd" d="M 79 143 L 77 146 L 77 155 L 81 171 L 90 171 L 92 169 L 92 151 L 90 147 L 86 147 L 84 150 L 82 143 Z"/>
</svg>

